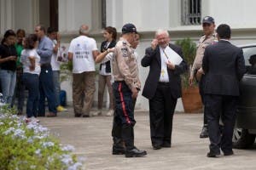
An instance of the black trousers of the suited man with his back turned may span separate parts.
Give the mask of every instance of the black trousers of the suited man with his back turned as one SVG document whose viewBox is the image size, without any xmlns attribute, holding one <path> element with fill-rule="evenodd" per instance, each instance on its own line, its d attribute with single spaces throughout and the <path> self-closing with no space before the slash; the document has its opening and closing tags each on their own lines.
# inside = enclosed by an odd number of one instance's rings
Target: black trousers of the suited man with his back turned
<svg viewBox="0 0 256 170">
<path fill-rule="evenodd" d="M 218 154 L 219 149 L 232 151 L 232 136 L 236 122 L 236 104 L 238 97 L 229 95 L 205 95 L 205 108 L 210 138 L 210 151 Z M 220 114 L 222 112 L 222 114 Z M 222 135 L 219 130 L 219 118 L 224 122 Z"/>
</svg>

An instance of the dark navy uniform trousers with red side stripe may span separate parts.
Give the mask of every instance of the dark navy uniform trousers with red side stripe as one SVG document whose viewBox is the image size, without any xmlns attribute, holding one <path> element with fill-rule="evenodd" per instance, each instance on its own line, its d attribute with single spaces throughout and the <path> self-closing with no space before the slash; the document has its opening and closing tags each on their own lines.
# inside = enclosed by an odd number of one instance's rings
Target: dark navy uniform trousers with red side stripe
<svg viewBox="0 0 256 170">
<path fill-rule="evenodd" d="M 115 112 L 113 115 L 113 147 L 123 147 L 125 142 L 126 150 L 134 149 L 134 131 L 136 123 L 131 99 L 131 89 L 124 81 L 113 82 L 113 95 L 115 98 Z"/>
</svg>

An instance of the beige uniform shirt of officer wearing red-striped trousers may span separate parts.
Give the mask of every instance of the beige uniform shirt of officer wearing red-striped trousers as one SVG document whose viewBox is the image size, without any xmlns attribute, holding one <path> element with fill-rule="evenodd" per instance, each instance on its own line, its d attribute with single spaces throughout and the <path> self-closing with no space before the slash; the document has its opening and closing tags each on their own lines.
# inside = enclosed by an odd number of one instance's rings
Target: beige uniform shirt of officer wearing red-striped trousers
<svg viewBox="0 0 256 170">
<path fill-rule="evenodd" d="M 115 46 L 113 55 L 113 79 L 114 81 L 125 81 L 128 87 L 141 88 L 138 78 L 138 66 L 134 50 L 131 44 L 120 37 Z"/>
</svg>

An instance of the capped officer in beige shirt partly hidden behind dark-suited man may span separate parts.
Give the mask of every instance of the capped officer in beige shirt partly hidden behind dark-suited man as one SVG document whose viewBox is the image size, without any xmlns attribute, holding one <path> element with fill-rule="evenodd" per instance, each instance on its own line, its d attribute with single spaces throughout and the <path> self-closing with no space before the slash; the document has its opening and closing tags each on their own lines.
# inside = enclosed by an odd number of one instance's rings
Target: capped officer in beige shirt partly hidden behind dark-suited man
<svg viewBox="0 0 256 170">
<path fill-rule="evenodd" d="M 205 52 L 205 49 L 208 45 L 214 43 L 217 40 L 217 37 L 214 34 L 215 28 L 215 21 L 211 16 L 206 16 L 202 20 L 202 28 L 204 31 L 204 36 L 202 36 L 199 40 L 195 60 L 190 72 L 189 77 L 189 84 L 192 85 L 194 78 L 199 81 L 199 88 L 201 94 L 201 100 L 204 104 L 204 84 L 205 84 L 205 77 L 202 70 L 202 59 Z M 204 125 L 202 127 L 200 138 L 207 138 L 208 137 L 208 127 L 207 127 L 207 116 L 206 111 L 204 110 Z"/>
</svg>

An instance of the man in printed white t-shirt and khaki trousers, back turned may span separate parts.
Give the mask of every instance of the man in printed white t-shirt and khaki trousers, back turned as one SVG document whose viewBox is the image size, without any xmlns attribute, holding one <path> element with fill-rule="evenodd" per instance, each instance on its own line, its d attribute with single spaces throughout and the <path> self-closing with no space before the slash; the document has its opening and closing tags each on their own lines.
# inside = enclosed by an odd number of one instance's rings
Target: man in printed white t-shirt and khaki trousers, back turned
<svg viewBox="0 0 256 170">
<path fill-rule="evenodd" d="M 96 90 L 95 59 L 98 52 L 96 41 L 87 37 L 88 26 L 82 25 L 79 37 L 70 42 L 68 59 L 73 62 L 73 109 L 74 116 L 89 117 Z"/>
</svg>

